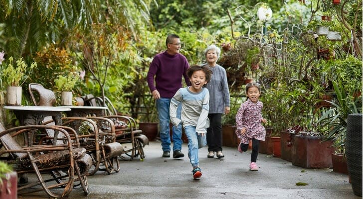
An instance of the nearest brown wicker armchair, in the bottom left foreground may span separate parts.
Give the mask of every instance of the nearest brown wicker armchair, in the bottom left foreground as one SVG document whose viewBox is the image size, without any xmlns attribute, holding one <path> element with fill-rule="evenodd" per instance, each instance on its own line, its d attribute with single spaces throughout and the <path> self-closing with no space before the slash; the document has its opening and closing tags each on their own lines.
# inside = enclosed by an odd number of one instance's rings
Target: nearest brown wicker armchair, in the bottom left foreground
<svg viewBox="0 0 363 199">
<path fill-rule="evenodd" d="M 33 133 L 46 129 L 58 131 L 62 135 L 64 144 L 22 147 L 14 139 L 14 136 L 23 133 Z M 86 154 L 86 150 L 79 146 L 76 132 L 67 127 L 28 125 L 5 130 L 0 124 L 1 161 L 11 164 L 18 175 L 32 173 L 37 178 L 36 182 L 18 185 L 18 194 L 43 190 L 49 197 L 63 198 L 71 193 L 74 182 L 80 181 L 87 196 L 87 173 L 92 166 L 92 159 Z M 62 173 L 65 175 L 57 176 L 54 174 L 55 172 L 60 174 L 59 171 L 63 171 Z M 75 174 L 78 178 L 74 177 Z M 59 191 L 52 192 L 51 189 L 54 188 L 62 188 L 62 193 L 59 194 Z"/>
</svg>

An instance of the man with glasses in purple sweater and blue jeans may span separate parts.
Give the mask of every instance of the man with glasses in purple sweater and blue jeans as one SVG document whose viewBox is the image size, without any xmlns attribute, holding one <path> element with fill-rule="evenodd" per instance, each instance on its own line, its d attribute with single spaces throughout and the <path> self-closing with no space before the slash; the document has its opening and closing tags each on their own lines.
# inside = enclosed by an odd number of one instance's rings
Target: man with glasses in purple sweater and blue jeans
<svg viewBox="0 0 363 199">
<path fill-rule="evenodd" d="M 181 78 L 184 76 L 185 83 L 189 85 L 186 70 L 189 63 L 185 56 L 179 53 L 181 49 L 180 37 L 170 34 L 166 40 L 167 50 L 156 55 L 150 65 L 148 72 L 148 85 L 154 99 L 156 99 L 159 113 L 160 139 L 162 141 L 163 157 L 170 157 L 170 101 L 177 91 L 182 88 Z M 155 84 L 154 84 L 155 80 Z M 177 117 L 181 118 L 181 106 L 178 107 Z M 173 158 L 184 157 L 181 152 L 181 124 L 173 126 Z"/>
</svg>

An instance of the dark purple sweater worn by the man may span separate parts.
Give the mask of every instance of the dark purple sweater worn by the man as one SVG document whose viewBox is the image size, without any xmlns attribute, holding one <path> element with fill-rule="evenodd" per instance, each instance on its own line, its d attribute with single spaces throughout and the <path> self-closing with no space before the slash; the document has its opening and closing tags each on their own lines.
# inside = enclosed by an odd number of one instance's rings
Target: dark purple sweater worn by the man
<svg viewBox="0 0 363 199">
<path fill-rule="evenodd" d="M 162 98 L 173 98 L 177 91 L 182 88 L 181 77 L 184 76 L 185 83 L 189 85 L 186 70 L 189 63 L 184 55 L 177 53 L 170 55 L 167 51 L 159 53 L 154 57 L 148 72 L 148 85 L 150 91 L 158 90 Z M 154 77 L 155 83 L 154 84 Z"/>
</svg>

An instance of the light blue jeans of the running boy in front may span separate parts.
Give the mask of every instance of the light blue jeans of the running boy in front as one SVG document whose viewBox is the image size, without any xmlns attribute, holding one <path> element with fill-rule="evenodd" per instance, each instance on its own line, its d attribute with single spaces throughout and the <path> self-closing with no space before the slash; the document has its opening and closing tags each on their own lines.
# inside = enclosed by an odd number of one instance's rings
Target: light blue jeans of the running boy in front
<svg viewBox="0 0 363 199">
<path fill-rule="evenodd" d="M 188 155 L 192 167 L 199 166 L 199 149 L 207 144 L 206 133 L 201 136 L 195 132 L 195 126 L 185 126 L 184 131 L 188 138 Z"/>
</svg>

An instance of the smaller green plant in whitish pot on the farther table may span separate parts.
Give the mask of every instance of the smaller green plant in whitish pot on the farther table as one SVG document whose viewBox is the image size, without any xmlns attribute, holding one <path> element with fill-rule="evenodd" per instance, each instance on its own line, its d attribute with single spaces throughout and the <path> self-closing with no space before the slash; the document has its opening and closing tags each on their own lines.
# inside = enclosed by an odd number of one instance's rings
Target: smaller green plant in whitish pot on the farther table
<svg viewBox="0 0 363 199">
<path fill-rule="evenodd" d="M 76 67 L 73 67 L 67 75 L 59 75 L 57 79 L 54 80 L 55 89 L 61 92 L 61 105 L 72 105 L 72 89 L 79 79 Z"/>
</svg>

